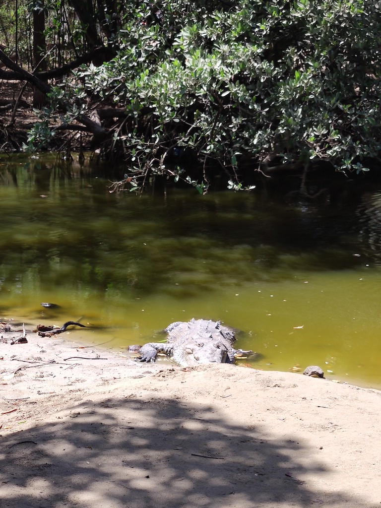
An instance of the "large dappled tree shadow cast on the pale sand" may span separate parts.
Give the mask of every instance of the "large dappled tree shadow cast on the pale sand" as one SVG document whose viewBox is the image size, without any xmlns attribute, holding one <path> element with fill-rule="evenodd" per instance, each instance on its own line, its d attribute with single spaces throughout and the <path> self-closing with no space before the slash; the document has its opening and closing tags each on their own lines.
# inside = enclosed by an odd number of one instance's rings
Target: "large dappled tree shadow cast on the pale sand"
<svg viewBox="0 0 381 508">
<path fill-rule="evenodd" d="M 1 506 L 366 505 L 324 486 L 311 491 L 302 479 L 312 472 L 324 485 L 322 464 L 301 465 L 301 442 L 263 437 L 260 426 L 233 426 L 200 403 L 86 400 L 0 440 Z"/>
</svg>

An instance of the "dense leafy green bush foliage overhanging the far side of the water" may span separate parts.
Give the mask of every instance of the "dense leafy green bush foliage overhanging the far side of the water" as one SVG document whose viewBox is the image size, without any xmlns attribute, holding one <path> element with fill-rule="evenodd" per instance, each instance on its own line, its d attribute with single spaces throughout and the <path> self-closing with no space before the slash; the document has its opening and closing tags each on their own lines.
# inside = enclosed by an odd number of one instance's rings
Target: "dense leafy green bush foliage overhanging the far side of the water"
<svg viewBox="0 0 381 508">
<path fill-rule="evenodd" d="M 164 173 L 203 192 L 223 170 L 237 189 L 275 163 L 362 171 L 378 158 L 381 3 L 114 4 L 102 36 L 113 58 L 78 68 L 52 96 L 73 104 L 66 122 L 94 104 L 125 108 L 103 141 L 105 156 L 128 163 L 125 182 Z M 46 139 L 55 113 L 31 140 Z"/>
</svg>

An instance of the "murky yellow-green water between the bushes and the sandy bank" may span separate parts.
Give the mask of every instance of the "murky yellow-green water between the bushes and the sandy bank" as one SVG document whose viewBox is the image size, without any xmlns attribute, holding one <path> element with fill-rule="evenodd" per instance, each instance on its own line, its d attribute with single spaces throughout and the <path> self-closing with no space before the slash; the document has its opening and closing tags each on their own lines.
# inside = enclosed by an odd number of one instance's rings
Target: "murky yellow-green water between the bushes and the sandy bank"
<svg viewBox="0 0 381 508">
<path fill-rule="evenodd" d="M 261 354 L 253 367 L 317 364 L 381 388 L 381 192 L 319 206 L 260 190 L 116 195 L 105 170 L 0 161 L 1 317 L 81 319 L 99 328 L 68 338 L 115 347 L 173 321 L 220 319 Z"/>
</svg>

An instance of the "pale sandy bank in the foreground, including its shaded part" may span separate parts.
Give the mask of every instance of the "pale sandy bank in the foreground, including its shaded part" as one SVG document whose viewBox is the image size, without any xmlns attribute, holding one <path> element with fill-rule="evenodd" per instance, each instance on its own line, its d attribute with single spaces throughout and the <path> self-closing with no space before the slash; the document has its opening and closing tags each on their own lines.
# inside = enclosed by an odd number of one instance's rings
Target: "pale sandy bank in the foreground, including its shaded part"
<svg viewBox="0 0 381 508">
<path fill-rule="evenodd" d="M 63 337 L 0 344 L 2 507 L 380 506 L 381 392 Z"/>
</svg>

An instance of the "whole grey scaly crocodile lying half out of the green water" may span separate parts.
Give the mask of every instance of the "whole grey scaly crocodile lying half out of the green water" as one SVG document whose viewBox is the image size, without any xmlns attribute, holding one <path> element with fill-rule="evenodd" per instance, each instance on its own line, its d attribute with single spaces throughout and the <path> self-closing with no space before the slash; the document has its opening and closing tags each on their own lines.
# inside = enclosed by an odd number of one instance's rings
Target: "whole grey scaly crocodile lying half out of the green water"
<svg viewBox="0 0 381 508">
<path fill-rule="evenodd" d="M 184 323 L 171 323 L 165 330 L 167 342 L 147 342 L 139 349 L 141 362 L 154 362 L 158 352 L 164 352 L 182 367 L 201 363 L 233 363 L 236 357 L 251 355 L 252 351 L 233 348 L 234 330 L 219 321 L 194 318 Z"/>
</svg>

